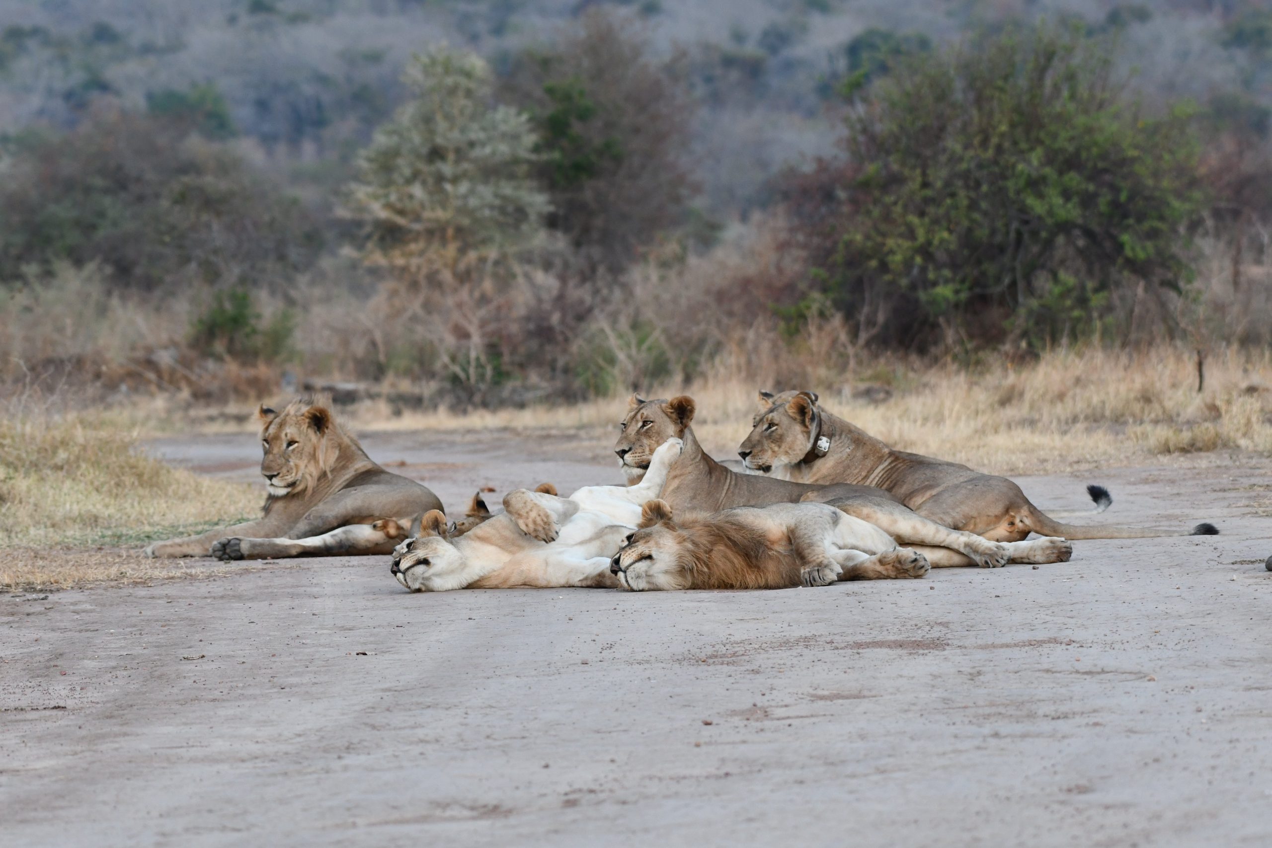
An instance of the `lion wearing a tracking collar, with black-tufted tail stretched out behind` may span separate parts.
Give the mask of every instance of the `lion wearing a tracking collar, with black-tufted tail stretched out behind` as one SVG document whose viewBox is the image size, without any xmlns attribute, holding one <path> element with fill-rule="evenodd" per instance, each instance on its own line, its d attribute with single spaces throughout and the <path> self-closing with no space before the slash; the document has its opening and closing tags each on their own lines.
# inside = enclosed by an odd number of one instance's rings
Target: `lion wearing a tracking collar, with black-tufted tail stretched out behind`
<svg viewBox="0 0 1272 848">
<path fill-rule="evenodd" d="M 918 515 L 955 530 L 1014 543 L 1030 531 L 1066 539 L 1137 539 L 1170 535 L 1110 525 L 1063 524 L 1034 506 L 1005 477 L 967 465 L 894 450 L 818 403 L 814 392 L 759 393 L 761 412 L 738 449 L 753 470 L 800 483 L 878 486 Z M 1096 502 L 1089 515 L 1112 502 L 1099 486 L 1088 487 Z M 1189 534 L 1213 535 L 1212 524 Z"/>
</svg>

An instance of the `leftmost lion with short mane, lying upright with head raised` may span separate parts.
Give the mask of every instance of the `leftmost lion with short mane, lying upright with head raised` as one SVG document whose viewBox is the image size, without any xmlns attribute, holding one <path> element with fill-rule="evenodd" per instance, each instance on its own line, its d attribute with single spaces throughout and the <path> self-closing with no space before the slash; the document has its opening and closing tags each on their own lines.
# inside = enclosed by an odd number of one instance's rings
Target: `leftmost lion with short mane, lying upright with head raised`
<svg viewBox="0 0 1272 848">
<path fill-rule="evenodd" d="M 441 501 L 412 479 L 377 465 L 319 403 L 261 404 L 261 517 L 200 535 L 155 542 L 150 557 L 262 559 L 387 554 Z"/>
</svg>

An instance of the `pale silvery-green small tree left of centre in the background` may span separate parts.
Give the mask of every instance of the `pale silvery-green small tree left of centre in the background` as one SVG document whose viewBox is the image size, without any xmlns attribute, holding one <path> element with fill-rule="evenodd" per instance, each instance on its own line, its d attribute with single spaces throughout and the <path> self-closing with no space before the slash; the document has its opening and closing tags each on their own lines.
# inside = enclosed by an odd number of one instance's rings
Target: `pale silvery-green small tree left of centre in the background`
<svg viewBox="0 0 1272 848">
<path fill-rule="evenodd" d="M 533 240 L 548 211 L 529 118 L 491 102 L 490 66 L 445 47 L 415 56 L 415 98 L 375 131 L 350 186 L 364 257 L 406 280 L 455 280 Z"/>
</svg>

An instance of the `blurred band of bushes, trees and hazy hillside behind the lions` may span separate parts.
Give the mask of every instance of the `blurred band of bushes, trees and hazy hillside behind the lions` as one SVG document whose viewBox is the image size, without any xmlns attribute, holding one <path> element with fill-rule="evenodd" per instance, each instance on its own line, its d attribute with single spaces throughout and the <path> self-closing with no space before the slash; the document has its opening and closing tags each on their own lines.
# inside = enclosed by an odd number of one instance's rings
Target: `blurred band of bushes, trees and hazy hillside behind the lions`
<svg viewBox="0 0 1272 848">
<path fill-rule="evenodd" d="M 1272 341 L 1254 0 L 0 22 L 8 394 L 504 406 Z"/>
</svg>

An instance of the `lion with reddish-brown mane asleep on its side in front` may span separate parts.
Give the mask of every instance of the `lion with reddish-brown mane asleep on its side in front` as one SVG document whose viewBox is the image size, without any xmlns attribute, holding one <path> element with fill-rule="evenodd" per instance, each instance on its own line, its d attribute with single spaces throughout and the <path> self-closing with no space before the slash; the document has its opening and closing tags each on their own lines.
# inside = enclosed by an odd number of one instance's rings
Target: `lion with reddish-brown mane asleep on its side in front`
<svg viewBox="0 0 1272 848">
<path fill-rule="evenodd" d="M 787 589 L 922 577 L 927 558 L 828 503 L 740 506 L 673 516 L 650 501 L 611 561 L 623 589 Z"/>
</svg>

